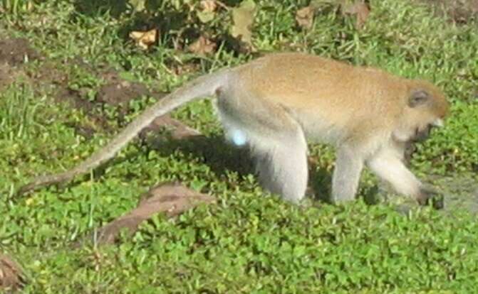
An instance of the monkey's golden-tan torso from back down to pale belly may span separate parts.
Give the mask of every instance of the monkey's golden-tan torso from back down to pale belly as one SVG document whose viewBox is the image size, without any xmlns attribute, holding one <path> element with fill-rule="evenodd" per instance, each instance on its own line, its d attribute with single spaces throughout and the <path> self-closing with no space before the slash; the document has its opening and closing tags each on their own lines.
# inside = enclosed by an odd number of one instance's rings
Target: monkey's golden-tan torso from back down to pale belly
<svg viewBox="0 0 478 294">
<path fill-rule="evenodd" d="M 237 71 L 246 77 L 241 85 L 244 90 L 288 109 L 305 131 L 323 134 L 323 129 L 354 129 L 350 127 L 354 125 L 373 131 L 383 124 L 395 124 L 382 118 L 398 117 L 405 105 L 401 77 L 315 55 L 267 55 Z"/>
</svg>

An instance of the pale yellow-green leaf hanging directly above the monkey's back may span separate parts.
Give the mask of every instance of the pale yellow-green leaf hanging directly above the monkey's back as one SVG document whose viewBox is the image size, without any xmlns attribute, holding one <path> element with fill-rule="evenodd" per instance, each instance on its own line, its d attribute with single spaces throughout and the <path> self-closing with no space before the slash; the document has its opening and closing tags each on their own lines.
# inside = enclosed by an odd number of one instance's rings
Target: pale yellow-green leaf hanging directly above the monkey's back
<svg viewBox="0 0 478 294">
<path fill-rule="evenodd" d="M 232 9 L 234 24 L 231 28 L 231 35 L 244 43 L 251 51 L 254 51 L 251 32 L 251 26 L 254 23 L 254 11 L 256 11 L 256 4 L 253 0 L 244 0 L 239 7 Z"/>
</svg>

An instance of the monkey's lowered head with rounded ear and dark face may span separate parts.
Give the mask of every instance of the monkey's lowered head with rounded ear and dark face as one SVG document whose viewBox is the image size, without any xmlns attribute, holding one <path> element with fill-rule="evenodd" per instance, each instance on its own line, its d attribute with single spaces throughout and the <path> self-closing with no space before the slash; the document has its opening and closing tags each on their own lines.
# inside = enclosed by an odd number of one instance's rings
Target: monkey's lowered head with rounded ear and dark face
<svg viewBox="0 0 478 294">
<path fill-rule="evenodd" d="M 434 126 L 443 126 L 449 108 L 445 95 L 435 85 L 410 80 L 405 109 L 393 133 L 394 138 L 402 142 L 425 140 Z"/>
</svg>

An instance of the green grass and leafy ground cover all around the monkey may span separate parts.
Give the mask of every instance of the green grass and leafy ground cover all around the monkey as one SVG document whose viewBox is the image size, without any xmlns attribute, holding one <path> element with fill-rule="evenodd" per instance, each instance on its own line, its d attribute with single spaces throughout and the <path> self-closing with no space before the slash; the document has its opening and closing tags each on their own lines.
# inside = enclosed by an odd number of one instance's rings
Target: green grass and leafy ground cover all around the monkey
<svg viewBox="0 0 478 294">
<path fill-rule="evenodd" d="M 0 3 L 7 2 L 26 3 Z M 108 12 L 108 6 L 95 5 L 111 1 L 94 2 L 43 1 L 10 11 L 0 20 L 0 37 L 27 38 L 44 59 L 25 65 L 24 72 L 53 65 L 71 89 L 82 89 L 86 100 L 94 99 L 104 83 L 100 67 L 152 89 L 171 90 L 193 76 L 251 58 L 234 53 L 227 40 L 207 57 L 173 48 L 182 22 L 223 36 L 229 29 L 224 25 L 229 23 L 227 11 L 212 23 L 199 23 L 194 11 L 175 14 L 184 11 L 175 6 L 183 0 L 157 1 L 162 10 L 150 16 L 128 6 Z M 383 0 L 371 1 L 372 13 L 360 31 L 353 18 L 333 9 L 319 12 L 313 28 L 301 31 L 294 13 L 307 1 L 257 2 L 253 38 L 259 51 L 300 50 L 439 85 L 452 102 L 452 113 L 445 128 L 419 146 L 412 170 L 422 178 L 477 180 L 476 22 L 456 26 L 416 1 Z M 177 23 L 161 21 L 167 17 Z M 157 21 L 162 38 L 145 53 L 127 36 L 148 21 Z M 192 43 L 194 33 L 184 38 Z M 92 69 L 80 67 L 76 58 Z M 172 69 L 186 65 L 197 70 L 173 74 Z M 17 199 L 15 187 L 34 175 L 70 168 L 111 138 L 98 121 L 54 102 L 53 92 L 28 75 L 0 91 L 0 251 L 24 266 L 24 293 L 477 292 L 478 227 L 467 207 L 458 205 L 450 214 L 425 208 L 403 215 L 394 205 L 365 205 L 363 200 L 338 207 L 316 200 L 290 205 L 261 190 L 241 168 L 239 153 L 224 144 L 209 145 L 211 155 L 186 142 L 175 149 L 135 141 L 95 175 Z M 127 120 L 149 103 L 132 102 Z M 115 119 L 114 107 L 95 113 L 108 117 L 112 128 L 123 124 Z M 212 141 L 222 135 L 207 101 L 182 107 L 174 116 Z M 75 126 L 98 132 L 86 139 Z M 311 146 L 311 156 L 320 175 L 312 181 L 329 185 L 332 149 Z M 218 204 L 172 220 L 158 215 L 142 224 L 133 239 L 112 246 L 71 246 L 135 207 L 152 185 L 172 180 L 214 195 Z M 360 196 L 373 194 L 376 187 L 375 178 L 365 173 Z M 321 189 L 319 194 L 326 193 Z"/>
</svg>

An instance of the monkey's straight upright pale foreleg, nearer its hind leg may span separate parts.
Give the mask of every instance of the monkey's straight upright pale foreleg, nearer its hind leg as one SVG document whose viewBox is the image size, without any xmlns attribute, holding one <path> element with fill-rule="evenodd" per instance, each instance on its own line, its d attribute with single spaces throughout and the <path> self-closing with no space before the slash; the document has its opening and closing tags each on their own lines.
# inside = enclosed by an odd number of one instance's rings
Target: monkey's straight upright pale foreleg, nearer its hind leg
<svg viewBox="0 0 478 294">
<path fill-rule="evenodd" d="M 355 199 L 360 173 L 363 169 L 363 159 L 353 148 L 342 146 L 338 148 L 336 168 L 332 177 L 332 202 L 347 202 Z"/>
</svg>

